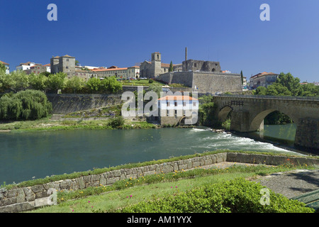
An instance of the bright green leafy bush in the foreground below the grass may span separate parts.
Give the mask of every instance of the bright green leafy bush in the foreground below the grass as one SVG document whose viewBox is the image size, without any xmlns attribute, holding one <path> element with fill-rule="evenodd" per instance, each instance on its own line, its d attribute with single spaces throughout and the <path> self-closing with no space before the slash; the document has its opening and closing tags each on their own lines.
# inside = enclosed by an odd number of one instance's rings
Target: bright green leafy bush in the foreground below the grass
<svg viewBox="0 0 319 227">
<path fill-rule="evenodd" d="M 269 205 L 262 205 L 262 185 L 238 178 L 219 184 L 206 184 L 187 192 L 155 197 L 126 206 L 123 213 L 313 213 L 296 200 L 269 190 Z"/>
</svg>

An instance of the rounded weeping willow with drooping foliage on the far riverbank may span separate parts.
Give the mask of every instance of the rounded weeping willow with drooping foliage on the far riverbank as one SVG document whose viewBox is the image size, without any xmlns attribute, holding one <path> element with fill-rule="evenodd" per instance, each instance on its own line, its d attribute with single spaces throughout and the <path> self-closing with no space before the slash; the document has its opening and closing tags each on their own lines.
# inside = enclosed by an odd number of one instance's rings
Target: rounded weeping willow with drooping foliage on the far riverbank
<svg viewBox="0 0 319 227">
<path fill-rule="evenodd" d="M 9 93 L 0 99 L 1 120 L 35 120 L 48 116 L 51 111 L 52 104 L 40 91 Z"/>
</svg>

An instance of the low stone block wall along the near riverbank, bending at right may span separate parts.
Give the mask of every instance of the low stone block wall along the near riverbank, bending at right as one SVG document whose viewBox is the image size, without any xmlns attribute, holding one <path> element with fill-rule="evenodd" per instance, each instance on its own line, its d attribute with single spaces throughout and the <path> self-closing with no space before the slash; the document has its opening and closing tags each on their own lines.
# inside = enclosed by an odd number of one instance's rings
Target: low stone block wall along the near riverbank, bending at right
<svg viewBox="0 0 319 227">
<path fill-rule="evenodd" d="M 78 190 L 87 187 L 99 187 L 100 185 L 111 185 L 121 179 L 130 179 L 154 175 L 155 173 L 169 173 L 175 170 L 190 170 L 194 167 L 212 165 L 218 162 L 245 162 L 265 165 L 281 165 L 287 161 L 285 156 L 271 155 L 248 155 L 242 153 L 218 153 L 193 157 L 187 160 L 165 162 L 162 164 L 134 167 L 131 169 L 112 170 L 99 175 L 88 175 L 76 179 L 65 179 L 57 182 L 23 187 L 17 189 L 0 189 L 0 213 L 16 213 L 34 209 L 38 206 L 47 205 L 49 189 Z M 319 165 L 319 160 L 306 157 L 289 157 L 289 162 L 300 165 Z"/>
</svg>

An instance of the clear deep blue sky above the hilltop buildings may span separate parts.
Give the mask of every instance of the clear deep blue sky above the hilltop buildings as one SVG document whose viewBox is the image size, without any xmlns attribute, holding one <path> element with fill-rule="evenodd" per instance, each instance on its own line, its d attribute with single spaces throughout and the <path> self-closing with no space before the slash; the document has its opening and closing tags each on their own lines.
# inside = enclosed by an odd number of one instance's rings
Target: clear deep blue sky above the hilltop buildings
<svg viewBox="0 0 319 227">
<path fill-rule="evenodd" d="M 220 61 L 222 70 L 291 72 L 319 81 L 319 1 L 288 0 L 0 0 L 0 60 L 50 63 L 72 55 L 82 65 L 130 67 L 162 53 L 162 62 Z M 261 21 L 262 4 L 270 21 Z M 57 21 L 47 21 L 48 4 Z"/>
</svg>

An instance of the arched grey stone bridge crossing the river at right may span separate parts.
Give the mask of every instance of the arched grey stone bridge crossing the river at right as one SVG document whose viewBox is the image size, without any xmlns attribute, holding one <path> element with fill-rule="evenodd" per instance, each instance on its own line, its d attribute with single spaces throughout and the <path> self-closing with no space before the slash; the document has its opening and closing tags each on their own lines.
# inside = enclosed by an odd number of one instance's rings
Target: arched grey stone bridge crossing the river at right
<svg viewBox="0 0 319 227">
<path fill-rule="evenodd" d="M 264 127 L 264 118 L 280 111 L 296 123 L 295 145 L 319 150 L 319 98 L 296 96 L 214 96 L 219 121 L 231 112 L 230 130 L 252 132 Z"/>
</svg>

